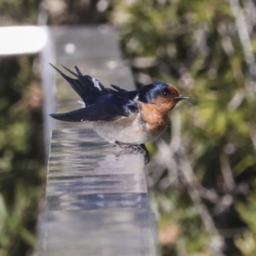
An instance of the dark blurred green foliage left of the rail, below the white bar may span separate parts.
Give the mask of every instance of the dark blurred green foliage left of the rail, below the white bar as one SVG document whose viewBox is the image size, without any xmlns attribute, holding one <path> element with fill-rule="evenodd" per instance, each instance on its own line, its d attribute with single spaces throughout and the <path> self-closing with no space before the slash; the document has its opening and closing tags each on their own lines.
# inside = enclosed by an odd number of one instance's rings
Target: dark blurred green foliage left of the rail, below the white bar
<svg viewBox="0 0 256 256">
<path fill-rule="evenodd" d="M 31 250 L 43 194 L 42 95 L 33 60 L 0 59 L 0 255 Z"/>
</svg>

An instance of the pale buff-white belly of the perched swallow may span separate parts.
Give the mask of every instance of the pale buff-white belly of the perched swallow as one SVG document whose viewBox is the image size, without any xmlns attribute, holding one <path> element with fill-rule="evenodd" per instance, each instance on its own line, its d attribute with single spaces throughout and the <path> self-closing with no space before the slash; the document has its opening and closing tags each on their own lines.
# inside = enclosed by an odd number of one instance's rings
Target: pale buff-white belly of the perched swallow
<svg viewBox="0 0 256 256">
<path fill-rule="evenodd" d="M 134 145 L 143 144 L 153 141 L 165 131 L 161 129 L 152 134 L 138 115 L 113 121 L 97 121 L 93 122 L 93 125 L 97 134 L 109 143 L 118 141 Z"/>
</svg>

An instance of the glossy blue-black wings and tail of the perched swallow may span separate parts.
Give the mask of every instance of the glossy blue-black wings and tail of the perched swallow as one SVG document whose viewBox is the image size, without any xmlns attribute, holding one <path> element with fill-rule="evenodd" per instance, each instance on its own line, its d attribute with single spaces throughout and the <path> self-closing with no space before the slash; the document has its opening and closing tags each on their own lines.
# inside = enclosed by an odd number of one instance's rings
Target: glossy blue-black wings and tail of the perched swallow
<svg viewBox="0 0 256 256">
<path fill-rule="evenodd" d="M 106 89 L 99 80 L 83 75 L 78 67 L 75 67 L 77 74 L 64 67 L 76 79 L 68 77 L 57 67 L 54 68 L 79 94 L 86 108 L 68 113 L 52 113 L 50 114 L 52 118 L 68 122 L 84 122 L 111 120 L 137 113 L 138 106 L 135 100 L 138 94 L 137 90 L 128 91 L 116 85 L 112 85 L 112 89 Z"/>
</svg>

